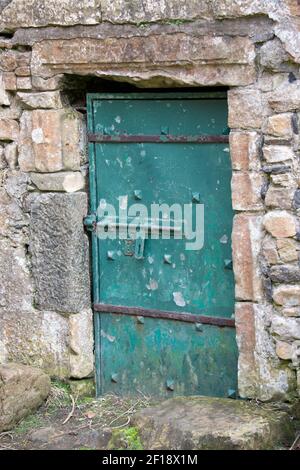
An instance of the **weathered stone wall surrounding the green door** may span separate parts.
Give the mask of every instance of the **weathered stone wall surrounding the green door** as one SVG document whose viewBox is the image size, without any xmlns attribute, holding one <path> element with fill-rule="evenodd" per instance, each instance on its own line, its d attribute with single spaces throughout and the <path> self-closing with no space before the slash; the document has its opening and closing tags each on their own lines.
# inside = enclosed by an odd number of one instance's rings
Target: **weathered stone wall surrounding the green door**
<svg viewBox="0 0 300 470">
<path fill-rule="evenodd" d="M 295 397 L 299 1 L 4 0 L 0 25 L 0 360 L 62 377 L 93 369 L 84 120 L 65 77 L 223 85 L 239 391 Z"/>
</svg>

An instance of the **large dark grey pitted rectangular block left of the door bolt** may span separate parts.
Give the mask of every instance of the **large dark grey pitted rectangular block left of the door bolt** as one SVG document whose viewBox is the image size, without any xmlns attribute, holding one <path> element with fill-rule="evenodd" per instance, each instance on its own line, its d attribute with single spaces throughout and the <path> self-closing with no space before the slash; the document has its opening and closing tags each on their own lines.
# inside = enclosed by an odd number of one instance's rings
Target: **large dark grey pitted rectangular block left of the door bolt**
<svg viewBox="0 0 300 470">
<path fill-rule="evenodd" d="M 90 305 L 85 193 L 41 194 L 31 208 L 31 243 L 36 305 L 77 313 Z"/>
</svg>

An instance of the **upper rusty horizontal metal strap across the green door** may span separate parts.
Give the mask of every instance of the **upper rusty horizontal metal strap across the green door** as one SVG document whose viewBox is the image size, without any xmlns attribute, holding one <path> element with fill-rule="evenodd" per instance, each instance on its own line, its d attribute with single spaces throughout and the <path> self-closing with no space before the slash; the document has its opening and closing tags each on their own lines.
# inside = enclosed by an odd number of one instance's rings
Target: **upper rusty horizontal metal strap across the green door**
<svg viewBox="0 0 300 470">
<path fill-rule="evenodd" d="M 228 135 L 105 135 L 88 134 L 95 143 L 157 143 L 157 144 L 228 144 Z"/>
</svg>

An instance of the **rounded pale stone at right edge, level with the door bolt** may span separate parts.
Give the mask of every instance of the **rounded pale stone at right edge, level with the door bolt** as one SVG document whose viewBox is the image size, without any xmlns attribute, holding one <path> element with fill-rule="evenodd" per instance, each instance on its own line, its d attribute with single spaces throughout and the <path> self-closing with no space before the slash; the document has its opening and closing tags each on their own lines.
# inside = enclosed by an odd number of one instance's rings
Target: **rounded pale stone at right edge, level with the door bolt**
<svg viewBox="0 0 300 470">
<path fill-rule="evenodd" d="M 294 237 L 296 219 L 286 211 L 271 211 L 264 216 L 265 229 L 276 238 Z"/>
</svg>

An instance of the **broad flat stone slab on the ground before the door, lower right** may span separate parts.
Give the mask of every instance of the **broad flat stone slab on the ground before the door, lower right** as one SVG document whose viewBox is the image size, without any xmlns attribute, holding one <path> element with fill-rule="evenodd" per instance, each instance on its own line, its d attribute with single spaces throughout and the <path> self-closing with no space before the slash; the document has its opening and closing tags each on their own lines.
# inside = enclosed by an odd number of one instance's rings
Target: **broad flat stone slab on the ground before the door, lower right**
<svg viewBox="0 0 300 470">
<path fill-rule="evenodd" d="M 293 436 L 287 413 L 245 401 L 178 397 L 133 418 L 149 450 L 272 449 Z"/>
</svg>

